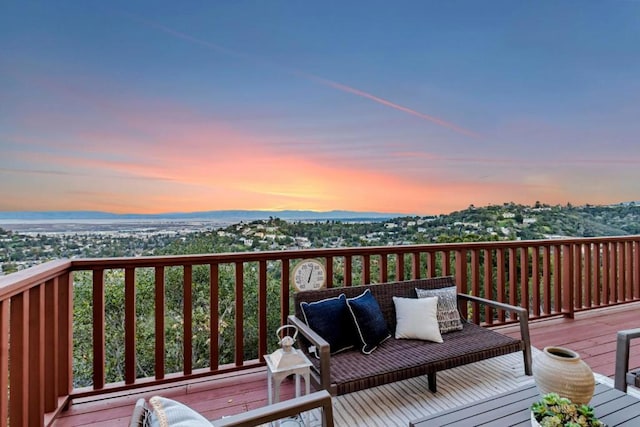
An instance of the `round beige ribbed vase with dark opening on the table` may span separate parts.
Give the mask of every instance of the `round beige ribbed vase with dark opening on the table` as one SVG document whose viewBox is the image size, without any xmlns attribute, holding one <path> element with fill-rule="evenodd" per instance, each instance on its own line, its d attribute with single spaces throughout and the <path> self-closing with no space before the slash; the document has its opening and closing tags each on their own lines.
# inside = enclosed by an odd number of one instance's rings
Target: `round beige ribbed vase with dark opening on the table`
<svg viewBox="0 0 640 427">
<path fill-rule="evenodd" d="M 588 404 L 593 397 L 593 371 L 573 350 L 545 347 L 533 361 L 533 378 L 541 395 L 558 393 L 574 403 Z"/>
</svg>

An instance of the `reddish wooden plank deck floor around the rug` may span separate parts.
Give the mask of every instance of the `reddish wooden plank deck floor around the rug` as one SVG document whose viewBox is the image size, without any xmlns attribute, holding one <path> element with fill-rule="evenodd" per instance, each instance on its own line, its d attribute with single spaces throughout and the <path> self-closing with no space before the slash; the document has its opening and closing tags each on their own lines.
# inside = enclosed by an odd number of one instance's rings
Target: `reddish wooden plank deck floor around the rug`
<svg viewBox="0 0 640 427">
<path fill-rule="evenodd" d="M 613 377 L 616 333 L 640 327 L 640 302 L 612 308 L 589 310 L 574 319 L 555 318 L 530 323 L 531 340 L 542 349 L 556 345 L 580 353 L 594 372 Z M 516 326 L 496 328 L 516 335 Z M 633 343 L 631 366 L 640 367 L 640 340 Z M 267 381 L 264 369 L 218 377 L 213 380 L 176 383 L 161 390 L 142 390 L 135 394 L 109 395 L 108 398 L 78 399 L 54 422 L 56 427 L 106 427 L 127 425 L 131 410 L 140 397 L 160 394 L 179 400 L 208 419 L 220 418 L 266 405 Z M 283 397 L 293 394 L 292 382 L 283 387 Z"/>
</svg>

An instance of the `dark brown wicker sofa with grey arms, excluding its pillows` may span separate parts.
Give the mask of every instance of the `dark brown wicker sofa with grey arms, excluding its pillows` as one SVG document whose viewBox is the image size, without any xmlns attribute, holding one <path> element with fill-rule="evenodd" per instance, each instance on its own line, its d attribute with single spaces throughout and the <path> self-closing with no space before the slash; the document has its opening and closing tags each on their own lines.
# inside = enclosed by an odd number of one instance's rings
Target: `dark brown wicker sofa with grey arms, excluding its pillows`
<svg viewBox="0 0 640 427">
<path fill-rule="evenodd" d="M 526 375 L 531 375 L 528 313 L 521 307 L 458 293 L 458 307 L 467 302 L 477 302 L 517 314 L 520 339 L 508 337 L 465 319 L 462 330 L 442 335 L 443 343 L 394 338 L 396 317 L 393 296 L 416 298 L 416 288 L 439 289 L 450 286 L 456 284 L 453 277 L 447 276 L 296 293 L 295 315 L 290 315 L 288 322 L 295 325 L 303 336 L 300 348 L 308 354 L 309 347 L 315 346 L 319 353 L 319 358 L 309 356 L 313 363 L 311 381 L 314 387 L 325 389 L 332 395 L 341 395 L 428 375 L 429 389 L 436 392 L 436 372 L 518 351 L 523 353 Z M 358 349 L 330 354 L 329 344 L 304 322 L 300 303 L 332 298 L 342 293 L 347 298 L 352 298 L 365 289 L 370 289 L 377 299 L 389 325 L 391 338 L 369 355 L 362 354 Z"/>
</svg>

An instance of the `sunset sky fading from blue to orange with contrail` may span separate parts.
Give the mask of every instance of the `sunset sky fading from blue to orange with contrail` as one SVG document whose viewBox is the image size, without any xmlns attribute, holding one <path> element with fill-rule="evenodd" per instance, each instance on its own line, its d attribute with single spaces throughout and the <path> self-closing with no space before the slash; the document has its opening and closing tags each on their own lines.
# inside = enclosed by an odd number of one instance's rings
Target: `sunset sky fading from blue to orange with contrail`
<svg viewBox="0 0 640 427">
<path fill-rule="evenodd" d="M 640 1 L 0 4 L 0 211 L 640 200 Z"/>
</svg>

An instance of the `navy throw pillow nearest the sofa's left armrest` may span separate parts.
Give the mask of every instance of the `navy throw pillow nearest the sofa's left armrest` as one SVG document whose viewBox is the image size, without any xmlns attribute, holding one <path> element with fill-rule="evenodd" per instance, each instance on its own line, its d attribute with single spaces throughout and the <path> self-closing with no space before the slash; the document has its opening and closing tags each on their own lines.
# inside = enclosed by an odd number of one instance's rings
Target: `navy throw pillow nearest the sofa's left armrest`
<svg viewBox="0 0 640 427">
<path fill-rule="evenodd" d="M 307 325 L 329 343 L 331 354 L 353 347 L 353 320 L 344 294 L 311 303 L 301 302 L 300 308 Z M 317 352 L 315 356 L 319 357 Z"/>
</svg>

